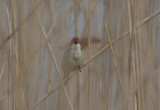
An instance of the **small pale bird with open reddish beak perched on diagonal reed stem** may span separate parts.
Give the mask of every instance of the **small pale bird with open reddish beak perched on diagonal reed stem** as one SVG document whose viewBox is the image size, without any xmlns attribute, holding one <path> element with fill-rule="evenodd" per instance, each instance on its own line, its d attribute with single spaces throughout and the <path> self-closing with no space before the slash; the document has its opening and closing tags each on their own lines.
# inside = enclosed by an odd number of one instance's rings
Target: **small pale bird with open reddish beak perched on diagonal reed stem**
<svg viewBox="0 0 160 110">
<path fill-rule="evenodd" d="M 68 78 L 71 72 L 80 68 L 84 59 L 84 51 L 82 51 L 80 40 L 78 37 L 73 37 L 62 58 L 63 79 Z M 68 80 L 64 84 L 66 85 L 67 82 Z"/>
</svg>

